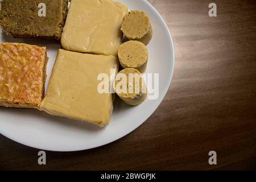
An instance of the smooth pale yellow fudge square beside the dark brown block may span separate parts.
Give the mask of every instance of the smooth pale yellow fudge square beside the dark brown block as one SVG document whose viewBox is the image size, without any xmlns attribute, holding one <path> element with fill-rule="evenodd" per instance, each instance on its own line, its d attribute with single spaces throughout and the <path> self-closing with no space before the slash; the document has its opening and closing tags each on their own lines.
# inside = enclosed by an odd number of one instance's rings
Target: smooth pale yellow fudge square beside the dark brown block
<svg viewBox="0 0 256 182">
<path fill-rule="evenodd" d="M 112 0 L 72 0 L 61 36 L 68 51 L 117 56 L 127 6 Z"/>
</svg>

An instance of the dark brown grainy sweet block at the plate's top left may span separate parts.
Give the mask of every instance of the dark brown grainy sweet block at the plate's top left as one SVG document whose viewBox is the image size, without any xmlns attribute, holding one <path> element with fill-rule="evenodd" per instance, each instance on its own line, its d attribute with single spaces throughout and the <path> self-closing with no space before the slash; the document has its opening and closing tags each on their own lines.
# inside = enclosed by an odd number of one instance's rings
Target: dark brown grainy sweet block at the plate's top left
<svg viewBox="0 0 256 182">
<path fill-rule="evenodd" d="M 60 40 L 69 0 L 3 0 L 0 25 L 14 37 L 42 37 Z M 46 5 L 46 16 L 39 16 Z M 38 14 L 39 12 L 39 14 Z"/>
</svg>

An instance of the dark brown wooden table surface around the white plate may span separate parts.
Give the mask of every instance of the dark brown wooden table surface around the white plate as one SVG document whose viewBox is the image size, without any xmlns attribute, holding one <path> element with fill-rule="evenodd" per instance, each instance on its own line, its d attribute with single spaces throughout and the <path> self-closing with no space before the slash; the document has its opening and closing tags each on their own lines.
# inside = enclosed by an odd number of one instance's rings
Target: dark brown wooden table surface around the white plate
<svg viewBox="0 0 256 182">
<path fill-rule="evenodd" d="M 150 0 L 174 40 L 174 77 L 137 130 L 79 152 L 38 151 L 0 137 L 0 169 L 256 169 L 256 1 Z M 208 152 L 217 152 L 210 166 Z"/>
</svg>

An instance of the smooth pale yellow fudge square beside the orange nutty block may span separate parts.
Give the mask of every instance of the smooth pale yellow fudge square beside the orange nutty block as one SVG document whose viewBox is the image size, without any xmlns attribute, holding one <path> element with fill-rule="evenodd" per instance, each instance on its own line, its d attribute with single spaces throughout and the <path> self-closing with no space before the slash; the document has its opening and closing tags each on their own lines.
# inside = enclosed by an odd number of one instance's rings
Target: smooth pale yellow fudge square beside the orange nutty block
<svg viewBox="0 0 256 182">
<path fill-rule="evenodd" d="M 98 92 L 101 82 L 98 81 L 98 75 L 106 73 L 111 85 L 118 67 L 115 56 L 59 49 L 40 109 L 52 115 L 87 121 L 101 127 L 108 125 L 113 111 L 113 94 L 110 90 L 108 93 Z"/>
</svg>

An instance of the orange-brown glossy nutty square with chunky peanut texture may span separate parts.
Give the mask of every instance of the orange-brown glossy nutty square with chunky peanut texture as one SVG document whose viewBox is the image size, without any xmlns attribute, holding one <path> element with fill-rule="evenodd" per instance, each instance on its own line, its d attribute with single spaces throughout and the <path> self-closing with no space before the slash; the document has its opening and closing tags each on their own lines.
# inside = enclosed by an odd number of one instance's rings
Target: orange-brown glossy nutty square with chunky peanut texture
<svg viewBox="0 0 256 182">
<path fill-rule="evenodd" d="M 44 97 L 45 47 L 0 44 L 0 106 L 38 108 Z"/>
</svg>

